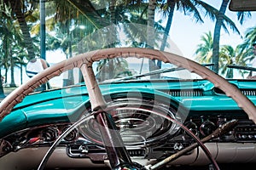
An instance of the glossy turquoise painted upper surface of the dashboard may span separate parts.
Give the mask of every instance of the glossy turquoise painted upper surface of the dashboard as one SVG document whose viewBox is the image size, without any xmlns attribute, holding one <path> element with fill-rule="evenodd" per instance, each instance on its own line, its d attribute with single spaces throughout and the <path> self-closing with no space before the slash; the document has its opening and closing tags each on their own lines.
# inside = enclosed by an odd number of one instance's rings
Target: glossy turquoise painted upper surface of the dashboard
<svg viewBox="0 0 256 170">
<path fill-rule="evenodd" d="M 252 82 L 232 81 L 238 88 L 254 88 Z M 189 111 L 215 111 L 220 107 L 223 111 L 241 110 L 233 99 L 224 94 L 212 93 L 213 85 L 206 80 L 201 81 L 177 81 L 177 82 L 113 82 L 100 85 L 102 94 L 110 96 L 114 94 L 151 94 L 172 99 L 178 105 L 183 105 Z M 202 96 L 173 96 L 172 90 L 201 90 Z M 256 104 L 256 96 L 249 96 Z M 0 122 L 0 136 L 14 132 L 18 129 L 35 125 L 54 122 L 76 121 L 83 111 L 90 107 L 90 99 L 84 85 L 54 89 L 41 93 L 34 93 L 26 98 L 14 110 Z M 14 126 L 15 125 L 15 126 Z M 6 130 L 9 129 L 9 130 Z"/>
</svg>

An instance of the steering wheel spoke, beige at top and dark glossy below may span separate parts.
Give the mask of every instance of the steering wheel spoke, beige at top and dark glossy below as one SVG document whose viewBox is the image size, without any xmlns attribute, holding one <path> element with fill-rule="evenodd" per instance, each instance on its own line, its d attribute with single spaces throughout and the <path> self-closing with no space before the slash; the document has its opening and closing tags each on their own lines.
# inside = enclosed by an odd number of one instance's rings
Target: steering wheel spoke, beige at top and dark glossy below
<svg viewBox="0 0 256 170">
<path fill-rule="evenodd" d="M 111 160 L 111 167 L 116 169 L 119 169 L 119 167 L 134 167 L 135 165 L 131 161 L 115 122 L 113 122 L 113 117 L 108 112 L 103 111 L 107 105 L 96 82 L 92 66 L 88 64 L 81 65 L 81 71 L 90 97 L 91 111 L 100 111 L 95 114 L 95 118 L 108 159 Z"/>
</svg>

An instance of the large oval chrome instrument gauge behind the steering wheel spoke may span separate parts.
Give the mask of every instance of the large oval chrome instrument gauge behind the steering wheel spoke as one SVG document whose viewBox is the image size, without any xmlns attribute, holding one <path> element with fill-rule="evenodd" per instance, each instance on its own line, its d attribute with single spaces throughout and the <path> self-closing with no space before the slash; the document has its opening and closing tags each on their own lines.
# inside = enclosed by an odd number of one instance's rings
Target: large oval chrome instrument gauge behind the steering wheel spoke
<svg viewBox="0 0 256 170">
<path fill-rule="evenodd" d="M 154 144 L 154 141 L 166 139 L 177 131 L 177 125 L 168 121 L 160 114 L 172 116 L 173 112 L 166 105 L 150 105 L 147 101 L 118 101 L 113 105 L 116 109 L 108 111 L 113 116 L 116 127 L 126 145 Z M 102 144 L 101 134 L 95 119 L 84 122 L 79 129 L 84 137 L 96 144 Z"/>
</svg>

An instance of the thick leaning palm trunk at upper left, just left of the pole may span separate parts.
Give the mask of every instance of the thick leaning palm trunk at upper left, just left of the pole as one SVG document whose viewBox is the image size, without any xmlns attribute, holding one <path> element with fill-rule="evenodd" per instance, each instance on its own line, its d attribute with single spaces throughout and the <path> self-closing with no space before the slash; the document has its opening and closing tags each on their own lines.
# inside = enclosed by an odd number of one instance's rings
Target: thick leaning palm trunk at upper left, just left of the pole
<svg viewBox="0 0 256 170">
<path fill-rule="evenodd" d="M 28 57 L 29 57 L 29 59 L 32 59 L 35 57 L 33 43 L 32 43 L 32 37 L 30 35 L 29 28 L 26 24 L 25 14 L 22 12 L 22 6 L 20 3 L 20 0 L 11 0 L 10 3 L 11 3 L 13 11 L 15 12 L 17 20 L 19 21 L 20 30 L 22 31 L 22 35 L 24 38 L 24 44 L 26 45 Z"/>
</svg>

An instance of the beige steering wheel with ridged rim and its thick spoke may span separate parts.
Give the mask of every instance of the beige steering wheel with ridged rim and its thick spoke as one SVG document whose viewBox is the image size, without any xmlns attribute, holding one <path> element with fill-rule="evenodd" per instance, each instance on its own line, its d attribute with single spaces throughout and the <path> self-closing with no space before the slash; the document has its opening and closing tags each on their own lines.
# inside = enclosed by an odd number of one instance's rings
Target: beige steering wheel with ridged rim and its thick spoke
<svg viewBox="0 0 256 170">
<path fill-rule="evenodd" d="M 116 142 L 122 144 L 123 141 L 118 131 L 116 130 L 116 126 L 112 117 L 105 111 L 107 108 L 106 101 L 102 96 L 101 90 L 96 82 L 95 74 L 92 70 L 92 63 L 94 61 L 117 57 L 145 57 L 148 59 L 159 59 L 165 63 L 172 63 L 178 67 L 182 67 L 191 72 L 195 72 L 202 78 L 212 82 L 215 87 L 222 89 L 227 96 L 234 99 L 237 105 L 247 113 L 249 119 L 253 120 L 253 122 L 256 122 L 256 116 L 254 115 L 254 113 L 256 113 L 255 105 L 253 105 L 252 101 L 247 99 L 244 94 L 241 94 L 241 91 L 236 88 L 236 86 L 230 84 L 230 82 L 227 82 L 223 77 L 218 76 L 218 74 L 210 71 L 206 67 L 201 66 L 190 59 L 183 58 L 177 54 L 161 52 L 148 48 L 100 49 L 84 54 L 79 54 L 73 58 L 62 61 L 59 64 L 53 65 L 35 77 L 32 77 L 32 79 L 30 79 L 25 84 L 22 84 L 19 88 L 16 88 L 12 94 L 9 94 L 5 99 L 3 99 L 0 106 L 0 121 L 2 121 L 3 117 L 7 116 L 12 111 L 14 106 L 20 103 L 27 94 L 32 93 L 34 89 L 48 82 L 52 77 L 59 76 L 64 71 L 78 67 L 82 71 L 86 88 L 89 93 L 91 111 L 93 111 L 96 121 L 102 125 L 102 128 L 100 128 L 102 136 L 106 136 L 106 138 L 104 137 L 102 140 L 106 146 L 111 167 L 113 169 L 118 169 L 118 166 L 128 166 L 140 169 L 141 166 L 134 164 L 131 161 L 127 150 L 125 150 L 125 147 L 121 147 L 118 150 L 115 150 L 115 148 L 112 147 L 113 141 L 111 139 L 113 137 L 117 138 L 115 140 L 115 144 Z M 109 109 L 111 109 L 111 107 L 107 108 L 107 110 Z M 108 131 L 109 128 L 113 129 L 113 131 Z M 127 162 L 128 164 L 130 163 L 130 165 L 126 165 L 125 163 Z"/>
</svg>

